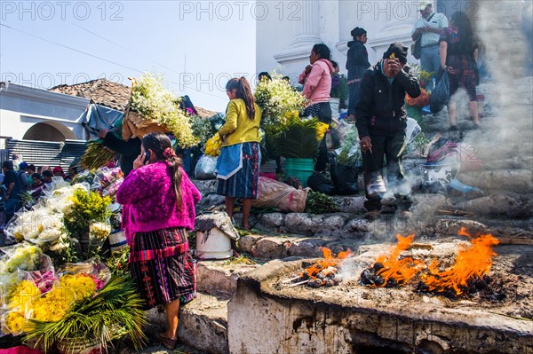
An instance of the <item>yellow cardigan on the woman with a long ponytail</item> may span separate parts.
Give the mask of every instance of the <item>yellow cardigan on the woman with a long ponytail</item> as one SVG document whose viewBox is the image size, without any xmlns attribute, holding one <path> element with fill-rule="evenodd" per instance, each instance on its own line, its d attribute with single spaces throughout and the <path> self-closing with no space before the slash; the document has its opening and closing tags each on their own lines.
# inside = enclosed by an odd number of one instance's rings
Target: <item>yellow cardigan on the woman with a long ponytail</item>
<svg viewBox="0 0 533 354">
<path fill-rule="evenodd" d="M 255 119 L 252 121 L 248 118 L 243 99 L 237 98 L 229 101 L 226 109 L 226 123 L 219 130 L 219 135 L 226 137 L 222 146 L 261 141 L 259 136 L 261 110 L 257 104 L 255 104 L 255 109 Z"/>
</svg>

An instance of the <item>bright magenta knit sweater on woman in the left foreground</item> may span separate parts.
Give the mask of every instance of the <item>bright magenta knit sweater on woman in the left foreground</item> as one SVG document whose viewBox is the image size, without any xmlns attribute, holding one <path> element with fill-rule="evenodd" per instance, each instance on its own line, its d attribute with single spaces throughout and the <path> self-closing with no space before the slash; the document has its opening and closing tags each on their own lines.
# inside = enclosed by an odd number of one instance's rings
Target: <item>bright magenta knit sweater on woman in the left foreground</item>
<svg viewBox="0 0 533 354">
<path fill-rule="evenodd" d="M 123 204 L 124 233 L 151 232 L 169 227 L 195 227 L 195 204 L 202 195 L 181 170 L 181 208 L 171 180 L 170 162 L 160 161 L 132 170 L 116 193 Z"/>
</svg>

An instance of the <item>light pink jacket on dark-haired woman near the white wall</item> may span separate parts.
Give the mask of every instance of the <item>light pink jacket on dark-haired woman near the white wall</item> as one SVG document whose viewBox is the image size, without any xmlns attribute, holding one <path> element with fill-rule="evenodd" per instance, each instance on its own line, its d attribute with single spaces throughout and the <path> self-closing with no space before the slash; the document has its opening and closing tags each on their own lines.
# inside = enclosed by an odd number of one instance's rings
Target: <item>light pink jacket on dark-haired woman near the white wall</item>
<svg viewBox="0 0 533 354">
<path fill-rule="evenodd" d="M 328 102 L 330 100 L 331 73 L 333 65 L 328 59 L 318 59 L 314 62 L 309 75 L 304 71 L 298 77 L 298 83 L 304 84 L 304 96 L 311 104 Z"/>
</svg>

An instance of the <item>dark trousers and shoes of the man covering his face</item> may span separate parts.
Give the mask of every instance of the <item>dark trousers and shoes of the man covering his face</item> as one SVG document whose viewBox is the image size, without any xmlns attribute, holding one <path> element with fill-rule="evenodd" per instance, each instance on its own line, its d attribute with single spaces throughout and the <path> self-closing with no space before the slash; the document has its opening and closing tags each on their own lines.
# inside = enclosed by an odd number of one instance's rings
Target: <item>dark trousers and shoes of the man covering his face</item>
<svg viewBox="0 0 533 354">
<path fill-rule="evenodd" d="M 384 167 L 384 158 L 386 159 L 386 178 L 389 187 L 395 185 L 402 187 L 407 184 L 402 171 L 402 150 L 406 141 L 405 131 L 400 131 L 394 135 L 372 135 L 370 133 L 370 142 L 372 144 L 372 153 L 367 152 L 362 155 L 362 164 L 365 172 L 365 183 L 367 176 L 371 172 L 381 170 Z M 412 201 L 410 199 L 410 187 L 405 190 L 399 188 L 398 193 L 394 193 L 396 197 L 396 208 L 400 210 L 409 210 Z M 367 201 L 364 202 L 364 208 L 367 210 L 381 209 L 381 197 L 376 195 L 370 197 L 366 193 Z"/>
</svg>

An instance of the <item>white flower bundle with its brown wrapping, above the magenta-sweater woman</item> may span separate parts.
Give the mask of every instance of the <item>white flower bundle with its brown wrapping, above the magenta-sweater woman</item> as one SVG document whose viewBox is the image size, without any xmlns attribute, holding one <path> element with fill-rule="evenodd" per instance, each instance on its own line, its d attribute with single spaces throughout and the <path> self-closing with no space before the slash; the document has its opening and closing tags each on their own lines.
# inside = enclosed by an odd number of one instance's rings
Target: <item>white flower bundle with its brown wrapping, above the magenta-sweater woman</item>
<svg viewBox="0 0 533 354">
<path fill-rule="evenodd" d="M 192 117 L 179 108 L 179 99 L 164 88 L 163 78 L 145 73 L 132 79 L 131 98 L 123 118 L 123 139 L 143 138 L 151 132 L 170 132 L 181 147 L 198 143 Z"/>
</svg>

